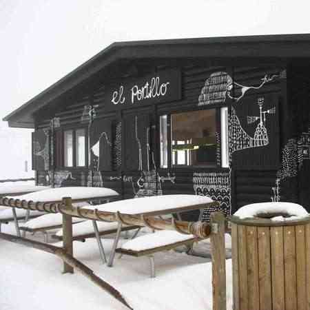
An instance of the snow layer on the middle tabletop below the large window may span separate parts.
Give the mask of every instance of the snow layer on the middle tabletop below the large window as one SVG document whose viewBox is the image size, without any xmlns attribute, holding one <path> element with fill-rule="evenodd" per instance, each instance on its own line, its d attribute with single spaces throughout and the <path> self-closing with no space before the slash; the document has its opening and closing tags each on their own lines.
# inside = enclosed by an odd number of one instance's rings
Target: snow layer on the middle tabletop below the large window
<svg viewBox="0 0 310 310">
<path fill-rule="evenodd" d="M 212 203 L 214 200 L 207 196 L 197 195 L 161 195 L 143 198 L 132 198 L 114 201 L 104 205 L 97 205 L 100 211 L 116 212 L 123 214 L 146 214 L 148 212 L 185 208 L 194 205 Z"/>
</svg>

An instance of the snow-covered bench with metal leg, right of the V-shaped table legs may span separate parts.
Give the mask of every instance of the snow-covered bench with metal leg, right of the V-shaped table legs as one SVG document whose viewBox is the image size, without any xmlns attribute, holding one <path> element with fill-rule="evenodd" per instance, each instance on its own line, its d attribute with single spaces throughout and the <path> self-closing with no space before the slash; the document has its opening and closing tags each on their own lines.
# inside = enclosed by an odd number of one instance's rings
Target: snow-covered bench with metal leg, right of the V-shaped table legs
<svg viewBox="0 0 310 310">
<path fill-rule="evenodd" d="M 198 238 L 194 235 L 180 234 L 178 231 L 156 231 L 154 234 L 137 237 L 125 242 L 116 249 L 116 253 L 140 257 L 149 256 L 151 263 L 151 278 L 155 277 L 155 263 L 152 254 L 159 251 L 167 251 L 181 245 L 192 246 Z"/>
</svg>

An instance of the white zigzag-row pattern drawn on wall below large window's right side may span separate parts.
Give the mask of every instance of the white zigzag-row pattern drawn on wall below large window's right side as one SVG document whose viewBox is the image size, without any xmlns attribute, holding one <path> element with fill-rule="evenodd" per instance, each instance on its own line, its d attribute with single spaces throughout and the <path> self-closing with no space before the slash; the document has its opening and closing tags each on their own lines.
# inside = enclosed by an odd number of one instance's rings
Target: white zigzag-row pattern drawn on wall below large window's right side
<svg viewBox="0 0 310 310">
<path fill-rule="evenodd" d="M 194 172 L 194 194 L 208 196 L 220 203 L 220 210 L 226 215 L 231 211 L 231 187 L 229 172 Z M 218 207 L 203 211 L 202 220 L 209 221 L 210 214 L 218 211 Z"/>
</svg>

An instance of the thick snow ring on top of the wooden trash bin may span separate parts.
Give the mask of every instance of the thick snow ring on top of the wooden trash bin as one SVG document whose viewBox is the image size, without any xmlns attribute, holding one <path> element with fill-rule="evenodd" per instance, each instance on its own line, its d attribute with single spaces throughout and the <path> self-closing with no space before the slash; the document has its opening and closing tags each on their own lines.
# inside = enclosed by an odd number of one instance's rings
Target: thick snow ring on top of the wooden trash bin
<svg viewBox="0 0 310 310">
<path fill-rule="evenodd" d="M 239 218 L 254 218 L 259 214 L 288 214 L 291 216 L 291 220 L 309 216 L 306 209 L 304 209 L 301 205 L 298 205 L 297 203 L 285 202 L 252 203 L 251 205 L 245 205 L 244 207 L 238 209 L 234 216 L 238 216 Z M 278 216 L 277 220 L 280 220 Z"/>
</svg>

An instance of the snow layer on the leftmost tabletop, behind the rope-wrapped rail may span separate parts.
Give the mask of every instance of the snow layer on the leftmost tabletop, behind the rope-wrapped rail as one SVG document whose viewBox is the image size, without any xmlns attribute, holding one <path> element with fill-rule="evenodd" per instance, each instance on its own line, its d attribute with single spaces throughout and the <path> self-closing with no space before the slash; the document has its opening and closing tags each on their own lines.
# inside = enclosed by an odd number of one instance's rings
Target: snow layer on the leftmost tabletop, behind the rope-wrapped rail
<svg viewBox="0 0 310 310">
<path fill-rule="evenodd" d="M 28 201 L 41 201 L 45 203 L 48 201 L 58 201 L 63 197 L 71 197 L 72 200 L 74 200 L 108 196 L 118 196 L 118 192 L 106 187 L 57 187 L 21 196 L 14 196 L 12 198 Z"/>
</svg>

